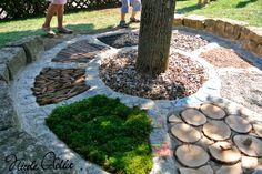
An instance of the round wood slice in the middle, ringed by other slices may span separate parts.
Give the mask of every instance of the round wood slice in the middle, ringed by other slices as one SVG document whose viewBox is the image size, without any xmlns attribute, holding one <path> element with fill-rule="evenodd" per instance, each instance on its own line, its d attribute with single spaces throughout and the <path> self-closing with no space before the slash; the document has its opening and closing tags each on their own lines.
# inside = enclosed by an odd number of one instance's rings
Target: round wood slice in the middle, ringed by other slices
<svg viewBox="0 0 262 174">
<path fill-rule="evenodd" d="M 231 130 L 222 121 L 211 121 L 203 126 L 203 133 L 209 139 L 223 141 L 230 137 Z"/>
</svg>

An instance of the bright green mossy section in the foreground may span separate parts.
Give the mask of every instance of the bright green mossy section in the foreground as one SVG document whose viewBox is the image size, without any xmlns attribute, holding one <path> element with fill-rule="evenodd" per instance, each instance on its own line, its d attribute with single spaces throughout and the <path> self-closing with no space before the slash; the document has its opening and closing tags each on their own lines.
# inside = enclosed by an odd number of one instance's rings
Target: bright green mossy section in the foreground
<svg viewBox="0 0 262 174">
<path fill-rule="evenodd" d="M 150 172 L 150 123 L 145 111 L 104 95 L 59 106 L 47 119 L 47 125 L 69 147 L 118 174 Z"/>
</svg>

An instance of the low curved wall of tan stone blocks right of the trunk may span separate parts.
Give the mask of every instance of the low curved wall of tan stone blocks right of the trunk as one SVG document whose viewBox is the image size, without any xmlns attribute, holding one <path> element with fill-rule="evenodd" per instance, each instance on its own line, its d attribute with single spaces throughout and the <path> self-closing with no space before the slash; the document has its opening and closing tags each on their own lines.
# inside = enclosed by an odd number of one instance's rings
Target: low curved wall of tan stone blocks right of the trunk
<svg viewBox="0 0 262 174">
<path fill-rule="evenodd" d="M 245 50 L 262 59 L 262 28 L 250 27 L 246 22 L 231 19 L 205 18 L 202 16 L 175 14 L 173 25 L 203 30 L 212 34 L 236 41 Z"/>
</svg>

